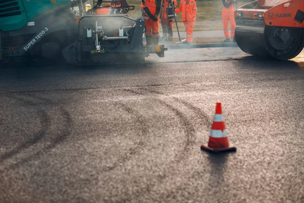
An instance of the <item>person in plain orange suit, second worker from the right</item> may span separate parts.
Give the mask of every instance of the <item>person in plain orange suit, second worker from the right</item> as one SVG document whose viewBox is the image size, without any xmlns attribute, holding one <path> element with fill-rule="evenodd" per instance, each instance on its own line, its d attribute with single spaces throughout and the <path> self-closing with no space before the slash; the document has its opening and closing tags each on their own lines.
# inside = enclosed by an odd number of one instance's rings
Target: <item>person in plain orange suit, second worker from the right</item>
<svg viewBox="0 0 304 203">
<path fill-rule="evenodd" d="M 187 39 L 183 44 L 191 44 L 193 36 L 193 22 L 196 21 L 197 6 L 194 0 L 181 0 L 175 13 L 182 12 L 181 20 L 184 23 Z"/>
</svg>

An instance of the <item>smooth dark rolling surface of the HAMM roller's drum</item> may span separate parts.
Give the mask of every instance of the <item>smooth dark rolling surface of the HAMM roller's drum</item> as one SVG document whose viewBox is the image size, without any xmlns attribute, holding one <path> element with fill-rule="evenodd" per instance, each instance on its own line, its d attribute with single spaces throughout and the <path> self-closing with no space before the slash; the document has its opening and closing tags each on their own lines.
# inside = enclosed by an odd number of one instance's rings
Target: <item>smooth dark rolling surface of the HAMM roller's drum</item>
<svg viewBox="0 0 304 203">
<path fill-rule="evenodd" d="M 254 56 L 269 56 L 266 49 L 263 33 L 243 31 L 238 27 L 235 31 L 236 43 L 247 54 Z"/>
</svg>

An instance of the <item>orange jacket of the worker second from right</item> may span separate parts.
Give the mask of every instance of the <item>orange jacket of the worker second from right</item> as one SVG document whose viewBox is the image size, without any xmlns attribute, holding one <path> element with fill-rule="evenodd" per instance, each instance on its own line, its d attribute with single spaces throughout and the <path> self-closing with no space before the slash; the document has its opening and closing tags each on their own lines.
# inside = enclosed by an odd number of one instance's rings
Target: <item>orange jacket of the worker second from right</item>
<svg viewBox="0 0 304 203">
<path fill-rule="evenodd" d="M 175 10 L 175 13 L 182 12 L 182 21 L 196 21 L 197 6 L 194 0 L 181 0 L 179 8 Z"/>
</svg>

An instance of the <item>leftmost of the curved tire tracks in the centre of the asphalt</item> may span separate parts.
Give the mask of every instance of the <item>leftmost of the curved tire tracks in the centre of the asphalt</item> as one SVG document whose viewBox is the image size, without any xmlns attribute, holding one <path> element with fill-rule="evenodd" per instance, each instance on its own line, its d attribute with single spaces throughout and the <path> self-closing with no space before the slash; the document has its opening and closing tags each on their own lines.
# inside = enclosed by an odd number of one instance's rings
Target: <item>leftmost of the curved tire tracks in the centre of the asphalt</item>
<svg viewBox="0 0 304 203">
<path fill-rule="evenodd" d="M 128 112 L 130 115 L 134 116 L 135 119 L 138 121 L 138 123 L 140 124 L 140 131 L 141 131 L 141 136 L 140 136 L 140 140 L 137 143 L 137 145 L 131 149 L 131 151 L 126 154 L 125 156 L 123 156 L 122 158 L 118 159 L 118 161 L 116 163 L 114 163 L 112 166 L 110 167 L 104 167 L 102 171 L 104 172 L 109 172 L 114 170 L 119 163 L 125 163 L 126 161 L 130 160 L 131 156 L 134 155 L 137 150 L 139 149 L 140 146 L 142 146 L 144 144 L 144 140 L 147 137 L 148 134 L 148 128 L 147 125 L 144 122 L 144 118 L 143 116 L 141 116 L 136 110 L 134 110 L 133 108 L 128 107 L 127 105 L 123 104 L 123 103 L 118 103 L 126 112 Z"/>
</svg>

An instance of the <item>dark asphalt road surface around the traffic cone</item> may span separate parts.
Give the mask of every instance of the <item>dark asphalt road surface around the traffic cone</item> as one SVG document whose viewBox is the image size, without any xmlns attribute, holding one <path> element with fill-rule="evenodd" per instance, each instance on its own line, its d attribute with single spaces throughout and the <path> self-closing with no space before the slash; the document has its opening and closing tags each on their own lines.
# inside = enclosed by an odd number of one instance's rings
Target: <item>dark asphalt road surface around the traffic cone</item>
<svg viewBox="0 0 304 203">
<path fill-rule="evenodd" d="M 206 144 L 222 103 L 236 153 Z M 304 53 L 0 69 L 0 202 L 304 202 Z"/>
</svg>

